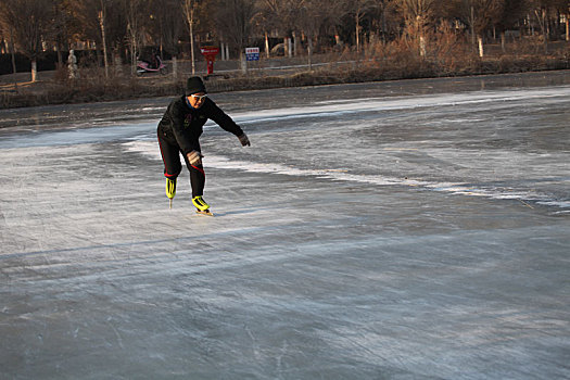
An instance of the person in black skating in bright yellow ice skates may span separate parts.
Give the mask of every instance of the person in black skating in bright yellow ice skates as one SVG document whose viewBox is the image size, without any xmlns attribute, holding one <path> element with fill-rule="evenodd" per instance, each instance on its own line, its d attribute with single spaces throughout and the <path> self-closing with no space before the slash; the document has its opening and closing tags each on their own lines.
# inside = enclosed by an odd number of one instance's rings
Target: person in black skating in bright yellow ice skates
<svg viewBox="0 0 570 380">
<path fill-rule="evenodd" d="M 166 197 L 170 201 L 170 208 L 176 194 L 176 179 L 182 170 L 179 156 L 181 152 L 190 172 L 192 204 L 198 208 L 198 213 L 213 215 L 210 205 L 203 199 L 206 176 L 199 142 L 202 127 L 208 118 L 236 135 L 243 147 L 250 145 L 250 140 L 240 126 L 207 97 L 202 79 L 197 76 L 188 78 L 185 94 L 168 104 L 157 128 L 166 177 Z"/>
</svg>

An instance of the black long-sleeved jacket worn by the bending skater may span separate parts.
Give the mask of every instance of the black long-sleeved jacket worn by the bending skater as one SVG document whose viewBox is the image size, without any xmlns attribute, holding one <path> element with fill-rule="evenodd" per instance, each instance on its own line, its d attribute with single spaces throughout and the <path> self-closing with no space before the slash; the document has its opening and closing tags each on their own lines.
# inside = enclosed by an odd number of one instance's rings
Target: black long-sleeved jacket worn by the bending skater
<svg viewBox="0 0 570 380">
<path fill-rule="evenodd" d="M 168 104 L 159 123 L 159 132 L 172 142 L 176 142 L 185 155 L 191 151 L 200 152 L 198 140 L 202 135 L 202 127 L 208 118 L 236 136 L 243 135 L 240 126 L 226 115 L 212 99 L 206 98 L 200 109 L 192 109 L 186 103 L 183 96 Z"/>
</svg>

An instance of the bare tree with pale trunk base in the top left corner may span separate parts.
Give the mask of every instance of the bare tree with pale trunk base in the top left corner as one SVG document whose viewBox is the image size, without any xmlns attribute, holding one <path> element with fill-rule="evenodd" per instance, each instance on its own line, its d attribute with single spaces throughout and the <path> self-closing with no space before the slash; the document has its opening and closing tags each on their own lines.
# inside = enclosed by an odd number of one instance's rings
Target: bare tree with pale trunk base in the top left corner
<svg viewBox="0 0 570 380">
<path fill-rule="evenodd" d="M 31 81 L 38 77 L 37 60 L 42 42 L 52 29 L 52 2 L 49 0 L 1 0 L 0 22 L 10 31 L 13 42 L 31 61 Z"/>
</svg>

